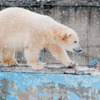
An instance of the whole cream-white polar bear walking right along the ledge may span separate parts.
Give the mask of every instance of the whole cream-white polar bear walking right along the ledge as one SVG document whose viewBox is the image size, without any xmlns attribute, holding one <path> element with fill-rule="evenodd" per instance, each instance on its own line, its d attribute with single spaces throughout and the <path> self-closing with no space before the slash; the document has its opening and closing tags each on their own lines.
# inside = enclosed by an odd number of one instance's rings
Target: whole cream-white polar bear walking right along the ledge
<svg viewBox="0 0 100 100">
<path fill-rule="evenodd" d="M 42 69 L 44 64 L 38 58 L 44 47 L 65 66 L 76 66 L 66 53 L 66 50 L 81 51 L 74 30 L 49 16 L 24 8 L 11 7 L 0 12 L 0 51 L 5 66 L 18 65 L 15 51 L 24 49 L 27 63 L 34 69 Z"/>
</svg>

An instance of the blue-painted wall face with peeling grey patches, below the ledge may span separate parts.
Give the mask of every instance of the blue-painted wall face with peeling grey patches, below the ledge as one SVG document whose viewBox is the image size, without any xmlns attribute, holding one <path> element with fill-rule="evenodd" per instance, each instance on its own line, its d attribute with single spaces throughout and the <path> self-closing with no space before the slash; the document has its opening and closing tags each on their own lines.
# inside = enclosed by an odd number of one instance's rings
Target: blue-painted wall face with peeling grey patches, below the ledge
<svg viewBox="0 0 100 100">
<path fill-rule="evenodd" d="M 100 100 L 100 76 L 0 72 L 0 100 Z"/>
</svg>

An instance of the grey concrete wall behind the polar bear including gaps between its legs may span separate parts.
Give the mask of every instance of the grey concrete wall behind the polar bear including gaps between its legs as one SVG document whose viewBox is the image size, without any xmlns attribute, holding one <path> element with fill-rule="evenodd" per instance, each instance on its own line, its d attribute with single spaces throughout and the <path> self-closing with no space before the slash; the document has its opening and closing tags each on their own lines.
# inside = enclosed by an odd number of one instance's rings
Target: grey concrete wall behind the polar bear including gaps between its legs
<svg viewBox="0 0 100 100">
<path fill-rule="evenodd" d="M 31 7 L 29 5 L 42 3 L 99 5 L 99 0 L 51 0 L 50 2 L 47 2 L 47 0 L 45 0 L 45 2 L 36 2 L 36 0 L 27 0 L 24 2 L 13 1 L 14 0 L 9 0 L 9 2 L 2 1 L 1 4 L 11 6 L 23 6 L 25 4 L 28 4 L 28 6 L 25 7 L 26 9 L 49 15 L 58 22 L 74 29 L 79 35 L 83 52 L 81 54 L 69 53 L 71 59 L 78 61 L 80 65 L 89 64 L 89 62 L 93 59 L 98 59 L 100 61 L 100 7 Z M 3 8 L 4 6 L 1 6 L 1 9 Z M 21 55 L 23 56 L 23 54 Z M 48 51 L 43 50 L 41 55 L 44 58 L 44 62 L 56 62 Z M 24 59 L 23 57 L 20 57 L 20 54 L 17 55 L 17 58 L 19 60 Z"/>
</svg>

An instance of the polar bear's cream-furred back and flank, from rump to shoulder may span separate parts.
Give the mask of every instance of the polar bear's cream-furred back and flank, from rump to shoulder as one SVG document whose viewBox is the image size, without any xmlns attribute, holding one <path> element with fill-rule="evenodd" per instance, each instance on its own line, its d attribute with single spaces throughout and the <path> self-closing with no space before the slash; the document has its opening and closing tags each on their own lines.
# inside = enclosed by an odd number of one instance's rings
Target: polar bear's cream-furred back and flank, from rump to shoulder
<svg viewBox="0 0 100 100">
<path fill-rule="evenodd" d="M 0 11 L 0 42 L 2 44 L 0 48 L 5 45 L 21 48 L 30 37 L 36 41 L 35 37 L 43 37 L 44 33 L 50 33 L 50 27 L 55 23 L 56 21 L 48 16 L 23 8 L 4 9 Z"/>
</svg>

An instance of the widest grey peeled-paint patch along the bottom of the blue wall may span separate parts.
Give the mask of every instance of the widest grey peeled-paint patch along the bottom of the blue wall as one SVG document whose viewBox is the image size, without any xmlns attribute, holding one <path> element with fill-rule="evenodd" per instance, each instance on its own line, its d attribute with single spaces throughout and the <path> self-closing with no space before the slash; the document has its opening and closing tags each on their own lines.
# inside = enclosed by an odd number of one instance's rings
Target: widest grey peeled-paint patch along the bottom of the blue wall
<svg viewBox="0 0 100 100">
<path fill-rule="evenodd" d="M 46 98 L 46 100 L 55 100 L 55 98 L 57 100 L 70 100 L 73 95 L 83 100 L 98 100 L 98 91 L 100 91 L 100 89 L 97 90 L 92 87 L 85 88 L 81 86 L 82 82 L 78 82 L 77 85 L 78 87 L 74 87 L 68 84 L 63 85 L 58 83 L 56 85 L 53 82 L 49 82 L 44 83 L 43 86 L 38 85 L 36 89 L 25 87 L 25 93 L 18 87 L 17 94 L 19 100 L 33 100 L 33 98 L 37 100 L 44 100 L 44 98 Z"/>
</svg>

